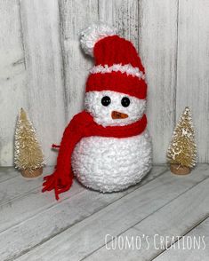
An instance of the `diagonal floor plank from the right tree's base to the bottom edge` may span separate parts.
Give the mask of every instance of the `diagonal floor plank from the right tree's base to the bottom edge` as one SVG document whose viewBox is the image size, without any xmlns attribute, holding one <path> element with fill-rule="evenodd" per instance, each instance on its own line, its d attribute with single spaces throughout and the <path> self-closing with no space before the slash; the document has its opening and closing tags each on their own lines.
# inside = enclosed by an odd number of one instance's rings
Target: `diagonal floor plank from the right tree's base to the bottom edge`
<svg viewBox="0 0 209 261">
<path fill-rule="evenodd" d="M 107 233 L 118 235 L 125 232 L 197 185 L 205 179 L 205 176 L 208 177 L 208 173 L 203 171 L 197 175 L 197 171 L 194 171 L 188 177 L 179 178 L 167 171 L 149 184 L 125 195 L 119 201 L 109 204 L 89 218 L 85 218 L 32 249 L 19 260 L 28 260 L 33 257 L 44 260 L 52 258 L 53 260 L 68 260 L 70 257 L 72 260 L 80 260 L 103 246 Z M 104 200 L 103 195 L 101 196 L 101 200 Z M 84 208 L 88 209 L 85 201 Z M 8 242 L 5 236 L 4 242 L 6 243 L 4 248 L 6 248 Z"/>
</svg>

